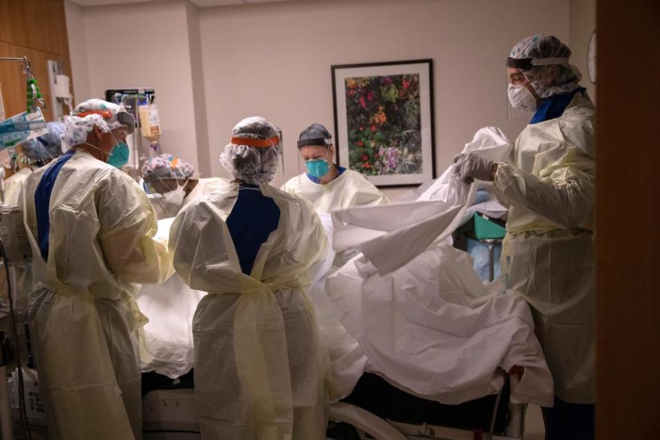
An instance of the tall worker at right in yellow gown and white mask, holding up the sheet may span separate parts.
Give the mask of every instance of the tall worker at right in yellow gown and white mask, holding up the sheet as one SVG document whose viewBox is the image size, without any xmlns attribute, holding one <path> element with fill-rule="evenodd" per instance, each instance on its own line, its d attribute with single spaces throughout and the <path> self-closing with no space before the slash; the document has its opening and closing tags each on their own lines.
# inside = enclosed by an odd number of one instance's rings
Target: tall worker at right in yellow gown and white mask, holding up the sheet
<svg viewBox="0 0 660 440">
<path fill-rule="evenodd" d="M 509 101 L 534 112 L 510 162 L 457 156 L 463 179 L 491 180 L 509 204 L 505 281 L 529 303 L 555 382 L 543 408 L 547 439 L 593 439 L 594 106 L 551 35 L 520 41 L 507 58 Z"/>
</svg>

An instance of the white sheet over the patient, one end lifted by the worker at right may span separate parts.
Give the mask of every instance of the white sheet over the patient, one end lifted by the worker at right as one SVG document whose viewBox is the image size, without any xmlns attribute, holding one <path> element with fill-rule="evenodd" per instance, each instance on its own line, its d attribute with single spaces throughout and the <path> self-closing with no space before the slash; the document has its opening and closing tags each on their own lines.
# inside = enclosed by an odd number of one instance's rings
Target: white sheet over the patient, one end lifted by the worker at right
<svg viewBox="0 0 660 440">
<path fill-rule="evenodd" d="M 494 160 L 510 150 L 491 128 L 464 149 Z M 417 201 L 332 213 L 333 249 L 361 253 L 310 296 L 343 395 L 371 371 L 408 393 L 460 404 L 497 393 L 503 372 L 518 365 L 525 373 L 512 401 L 551 406 L 527 303 L 499 282 L 484 285 L 470 256 L 452 247 L 477 186 L 450 168 Z"/>
</svg>

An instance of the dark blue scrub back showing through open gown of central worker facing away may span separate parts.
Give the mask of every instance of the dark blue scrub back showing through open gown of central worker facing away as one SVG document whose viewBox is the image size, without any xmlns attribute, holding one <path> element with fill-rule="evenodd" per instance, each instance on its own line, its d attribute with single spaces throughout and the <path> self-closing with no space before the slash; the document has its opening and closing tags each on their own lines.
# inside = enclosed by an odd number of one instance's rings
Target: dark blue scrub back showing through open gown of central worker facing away
<svg viewBox="0 0 660 440">
<path fill-rule="evenodd" d="M 250 275 L 256 254 L 279 222 L 280 208 L 272 198 L 263 195 L 258 186 L 241 186 L 227 227 L 243 274 Z"/>
</svg>

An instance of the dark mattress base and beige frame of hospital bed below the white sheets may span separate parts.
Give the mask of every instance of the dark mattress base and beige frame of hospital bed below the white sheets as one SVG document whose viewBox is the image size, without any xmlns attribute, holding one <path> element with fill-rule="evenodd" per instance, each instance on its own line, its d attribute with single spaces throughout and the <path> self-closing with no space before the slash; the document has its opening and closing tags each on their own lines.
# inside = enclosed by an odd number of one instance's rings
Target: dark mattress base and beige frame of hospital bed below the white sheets
<svg viewBox="0 0 660 440">
<path fill-rule="evenodd" d="M 509 376 L 511 386 L 517 375 Z M 144 440 L 201 439 L 193 397 L 192 372 L 177 380 L 156 373 L 143 377 Z M 330 409 L 327 439 L 476 440 L 522 439 L 524 405 L 509 400 L 505 386 L 460 405 L 443 405 L 399 390 L 373 373 L 364 373 L 353 393 Z M 489 437 L 494 432 L 494 437 Z"/>
</svg>

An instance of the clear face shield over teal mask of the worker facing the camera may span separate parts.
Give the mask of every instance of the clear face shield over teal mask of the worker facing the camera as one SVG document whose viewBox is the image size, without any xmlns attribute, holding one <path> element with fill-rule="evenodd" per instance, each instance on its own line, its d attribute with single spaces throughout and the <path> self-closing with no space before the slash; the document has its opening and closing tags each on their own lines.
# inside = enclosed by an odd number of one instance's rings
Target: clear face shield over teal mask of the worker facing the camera
<svg viewBox="0 0 660 440">
<path fill-rule="evenodd" d="M 305 180 L 323 184 L 336 176 L 335 147 L 329 139 L 298 141 L 298 184 Z"/>
</svg>

